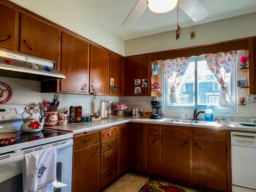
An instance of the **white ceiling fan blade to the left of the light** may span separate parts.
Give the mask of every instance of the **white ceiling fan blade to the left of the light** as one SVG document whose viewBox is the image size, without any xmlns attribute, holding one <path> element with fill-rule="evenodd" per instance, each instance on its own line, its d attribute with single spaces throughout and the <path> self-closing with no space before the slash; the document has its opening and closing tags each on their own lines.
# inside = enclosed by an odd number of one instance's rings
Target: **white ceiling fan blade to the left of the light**
<svg viewBox="0 0 256 192">
<path fill-rule="evenodd" d="M 124 20 L 122 26 L 132 26 L 148 8 L 147 0 L 138 0 L 130 14 Z"/>
</svg>

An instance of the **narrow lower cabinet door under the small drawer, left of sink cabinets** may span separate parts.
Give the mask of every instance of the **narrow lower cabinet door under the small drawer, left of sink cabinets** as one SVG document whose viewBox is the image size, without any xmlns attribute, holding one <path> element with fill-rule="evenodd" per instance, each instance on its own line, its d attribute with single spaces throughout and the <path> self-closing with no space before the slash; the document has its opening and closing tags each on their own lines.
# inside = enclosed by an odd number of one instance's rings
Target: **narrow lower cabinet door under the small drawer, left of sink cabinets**
<svg viewBox="0 0 256 192">
<path fill-rule="evenodd" d="M 160 142 L 158 135 L 148 135 L 148 172 L 160 173 Z"/>
</svg>

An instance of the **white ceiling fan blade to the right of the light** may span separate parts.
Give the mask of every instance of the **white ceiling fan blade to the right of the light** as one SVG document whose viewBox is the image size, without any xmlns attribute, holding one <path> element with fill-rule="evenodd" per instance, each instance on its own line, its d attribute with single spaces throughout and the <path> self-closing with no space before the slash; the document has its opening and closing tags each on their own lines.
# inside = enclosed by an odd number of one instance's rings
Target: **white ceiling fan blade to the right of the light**
<svg viewBox="0 0 256 192">
<path fill-rule="evenodd" d="M 178 6 L 194 21 L 206 18 L 210 11 L 199 0 L 180 0 Z"/>
</svg>

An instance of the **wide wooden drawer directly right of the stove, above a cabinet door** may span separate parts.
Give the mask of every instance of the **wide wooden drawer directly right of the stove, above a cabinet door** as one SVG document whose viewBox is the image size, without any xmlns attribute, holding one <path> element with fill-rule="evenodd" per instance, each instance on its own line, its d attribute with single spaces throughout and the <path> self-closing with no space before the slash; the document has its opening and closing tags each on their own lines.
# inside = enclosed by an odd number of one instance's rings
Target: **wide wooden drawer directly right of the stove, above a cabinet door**
<svg viewBox="0 0 256 192">
<path fill-rule="evenodd" d="M 100 132 L 74 137 L 73 149 L 77 150 L 100 142 Z"/>
</svg>

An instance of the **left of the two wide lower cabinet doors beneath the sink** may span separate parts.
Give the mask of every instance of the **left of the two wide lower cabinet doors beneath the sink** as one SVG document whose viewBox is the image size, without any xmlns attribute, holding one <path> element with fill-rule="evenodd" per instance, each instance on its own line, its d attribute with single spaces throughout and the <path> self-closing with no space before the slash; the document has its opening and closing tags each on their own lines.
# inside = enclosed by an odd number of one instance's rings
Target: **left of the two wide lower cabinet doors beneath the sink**
<svg viewBox="0 0 256 192">
<path fill-rule="evenodd" d="M 190 181 L 188 139 L 162 137 L 162 175 Z"/>
</svg>

